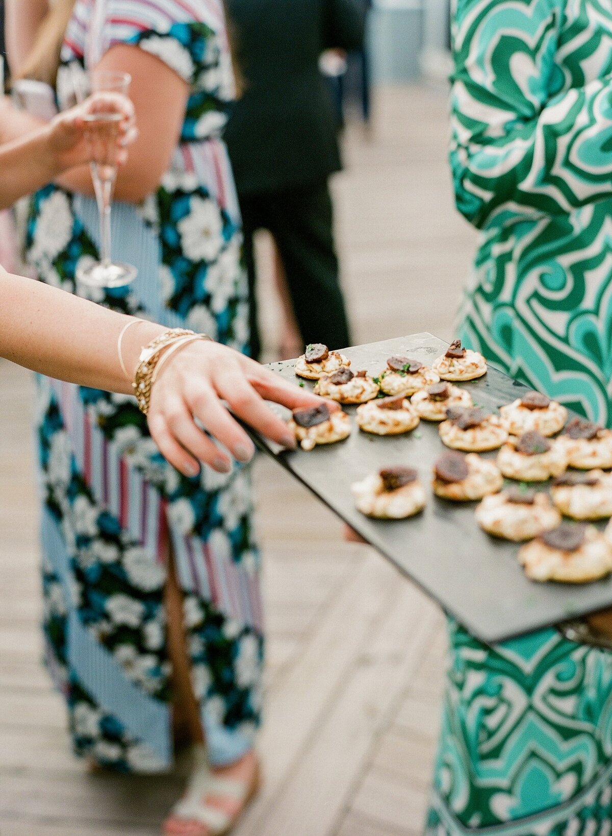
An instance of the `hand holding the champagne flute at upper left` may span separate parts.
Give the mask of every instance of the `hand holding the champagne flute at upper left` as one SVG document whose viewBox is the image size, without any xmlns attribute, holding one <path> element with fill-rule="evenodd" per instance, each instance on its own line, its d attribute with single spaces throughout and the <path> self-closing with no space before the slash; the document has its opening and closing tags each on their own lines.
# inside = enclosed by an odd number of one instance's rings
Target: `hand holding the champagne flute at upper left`
<svg viewBox="0 0 612 836">
<path fill-rule="evenodd" d="M 119 93 L 95 93 L 83 104 L 58 114 L 48 125 L 48 150 L 58 173 L 91 161 L 95 135 L 104 136 L 108 123 L 88 122 L 85 117 L 98 113 L 114 113 L 123 117 L 117 130 L 117 163 L 124 165 L 127 146 L 138 137 L 134 105 Z"/>
</svg>

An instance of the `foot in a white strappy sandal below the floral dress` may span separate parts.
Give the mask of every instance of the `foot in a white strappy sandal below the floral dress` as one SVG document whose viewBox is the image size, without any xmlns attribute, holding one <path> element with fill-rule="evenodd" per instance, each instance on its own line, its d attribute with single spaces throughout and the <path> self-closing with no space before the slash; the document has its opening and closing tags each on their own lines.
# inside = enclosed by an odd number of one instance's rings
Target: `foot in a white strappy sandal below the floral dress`
<svg viewBox="0 0 612 836">
<path fill-rule="evenodd" d="M 194 747 L 194 771 L 164 823 L 165 836 L 230 833 L 258 788 L 259 762 L 252 749 L 229 767 L 212 768 L 205 747 Z"/>
</svg>

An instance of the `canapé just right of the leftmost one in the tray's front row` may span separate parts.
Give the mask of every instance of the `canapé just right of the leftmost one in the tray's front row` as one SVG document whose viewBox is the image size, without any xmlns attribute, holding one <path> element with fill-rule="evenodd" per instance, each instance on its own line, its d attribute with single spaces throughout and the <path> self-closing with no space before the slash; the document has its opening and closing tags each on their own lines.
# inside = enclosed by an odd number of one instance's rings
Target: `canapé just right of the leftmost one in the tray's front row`
<svg viewBox="0 0 612 836">
<path fill-rule="evenodd" d="M 437 497 L 469 502 L 497 493 L 503 485 L 502 474 L 493 461 L 476 453 L 448 451 L 433 468 L 433 492 Z"/>
</svg>

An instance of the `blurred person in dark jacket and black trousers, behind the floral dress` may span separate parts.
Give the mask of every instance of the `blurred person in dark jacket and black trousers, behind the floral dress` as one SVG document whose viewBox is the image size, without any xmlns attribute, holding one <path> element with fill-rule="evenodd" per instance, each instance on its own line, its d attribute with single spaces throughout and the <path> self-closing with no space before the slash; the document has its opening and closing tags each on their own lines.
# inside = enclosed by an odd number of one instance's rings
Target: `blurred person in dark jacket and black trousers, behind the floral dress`
<svg viewBox="0 0 612 836">
<path fill-rule="evenodd" d="M 326 49 L 363 48 L 357 0 L 228 0 L 243 94 L 225 129 L 245 232 L 251 352 L 261 343 L 253 235 L 271 232 L 286 312 L 281 353 L 350 344 L 329 178 L 341 169 L 338 120 L 319 69 Z"/>
</svg>

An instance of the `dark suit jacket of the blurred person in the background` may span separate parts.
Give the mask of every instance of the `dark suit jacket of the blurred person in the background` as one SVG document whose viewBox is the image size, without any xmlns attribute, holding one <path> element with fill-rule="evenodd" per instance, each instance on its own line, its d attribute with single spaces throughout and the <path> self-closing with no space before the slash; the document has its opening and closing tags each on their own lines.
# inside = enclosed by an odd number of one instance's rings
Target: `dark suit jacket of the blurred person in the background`
<svg viewBox="0 0 612 836">
<path fill-rule="evenodd" d="M 306 186 L 341 167 L 337 123 L 318 61 L 360 49 L 358 0 L 226 0 L 244 92 L 225 129 L 238 192 Z"/>
</svg>

